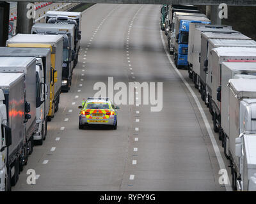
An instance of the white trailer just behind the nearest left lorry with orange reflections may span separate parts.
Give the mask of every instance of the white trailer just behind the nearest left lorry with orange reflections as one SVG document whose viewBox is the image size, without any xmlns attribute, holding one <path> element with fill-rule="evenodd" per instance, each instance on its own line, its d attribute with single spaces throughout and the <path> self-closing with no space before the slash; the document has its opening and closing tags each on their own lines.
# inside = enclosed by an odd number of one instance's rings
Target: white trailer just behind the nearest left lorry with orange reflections
<svg viewBox="0 0 256 204">
<path fill-rule="evenodd" d="M 33 152 L 33 135 L 36 131 L 36 58 L 0 57 L 0 73 L 25 74 L 25 149 L 21 163 L 24 166 L 28 161 L 28 155 Z"/>
</svg>

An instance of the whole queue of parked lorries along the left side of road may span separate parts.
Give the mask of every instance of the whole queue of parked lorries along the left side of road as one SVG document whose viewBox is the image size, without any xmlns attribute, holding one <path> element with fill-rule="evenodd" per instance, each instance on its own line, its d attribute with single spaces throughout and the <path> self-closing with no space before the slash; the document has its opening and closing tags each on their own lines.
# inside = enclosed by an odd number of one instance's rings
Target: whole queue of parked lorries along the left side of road
<svg viewBox="0 0 256 204">
<path fill-rule="evenodd" d="M 34 143 L 42 145 L 77 64 L 81 12 L 48 11 L 45 19 L 0 47 L 0 191 L 15 186 Z"/>
</svg>

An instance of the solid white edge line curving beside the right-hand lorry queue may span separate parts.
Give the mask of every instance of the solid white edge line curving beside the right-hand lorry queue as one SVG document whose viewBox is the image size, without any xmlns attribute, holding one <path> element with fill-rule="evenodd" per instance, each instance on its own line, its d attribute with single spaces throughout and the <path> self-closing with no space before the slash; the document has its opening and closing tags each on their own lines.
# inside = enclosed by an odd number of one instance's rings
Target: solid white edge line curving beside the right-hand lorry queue
<svg viewBox="0 0 256 204">
<path fill-rule="evenodd" d="M 180 71 L 176 68 L 175 64 L 173 64 L 173 61 L 172 61 L 172 59 L 171 59 L 171 57 L 170 57 L 170 55 L 169 55 L 169 53 L 168 53 L 168 51 L 167 51 L 167 49 L 166 49 L 166 45 L 165 45 L 165 43 L 164 43 L 163 33 L 161 32 L 161 29 L 160 29 L 160 35 L 161 35 L 161 40 L 162 40 L 162 43 L 163 43 L 163 46 L 164 46 L 164 51 L 165 51 L 165 53 L 166 53 L 166 55 L 167 55 L 167 57 L 168 57 L 168 60 L 169 60 L 170 64 L 172 64 L 173 69 L 174 69 L 174 70 L 176 71 L 176 73 L 179 75 L 179 77 L 181 78 L 182 82 L 184 82 L 184 84 L 185 84 L 186 87 L 188 88 L 189 92 L 191 93 L 191 95 L 192 95 L 193 98 L 195 99 L 196 105 L 197 105 L 197 107 L 198 107 L 198 109 L 199 109 L 199 111 L 200 111 L 200 113 L 201 113 L 201 115 L 202 115 L 202 119 L 204 120 L 204 124 L 205 124 L 205 127 L 206 127 L 206 129 L 207 129 L 207 132 L 208 132 L 208 134 L 209 134 L 209 137 L 211 138 L 212 147 L 213 147 L 214 152 L 215 152 L 215 154 L 216 154 L 216 157 L 217 157 L 217 159 L 218 159 L 218 163 L 219 163 L 219 165 L 220 165 L 220 169 L 225 169 L 225 170 L 226 170 L 224 161 L 223 161 L 223 159 L 222 159 L 222 157 L 221 157 L 221 154 L 220 154 L 220 149 L 219 149 L 218 144 L 217 144 L 217 142 L 216 142 L 216 140 L 215 140 L 215 138 L 214 138 L 214 135 L 213 135 L 213 133 L 212 133 L 211 126 L 210 126 L 210 124 L 209 124 L 209 122 L 208 122 L 208 119 L 207 119 L 207 117 L 206 117 L 206 115 L 205 115 L 205 113 L 204 113 L 204 110 L 203 110 L 203 108 L 202 108 L 202 106 L 201 106 L 201 104 L 200 104 L 200 101 L 198 100 L 198 98 L 197 98 L 195 92 L 193 91 L 193 89 L 191 89 L 191 87 L 190 87 L 190 85 L 188 84 L 188 82 L 184 79 L 184 77 L 181 75 Z M 226 187 L 226 190 L 227 190 L 227 191 L 232 191 L 232 188 L 230 187 L 230 180 L 229 180 L 229 177 L 228 177 L 228 185 L 225 185 L 225 187 Z"/>
</svg>

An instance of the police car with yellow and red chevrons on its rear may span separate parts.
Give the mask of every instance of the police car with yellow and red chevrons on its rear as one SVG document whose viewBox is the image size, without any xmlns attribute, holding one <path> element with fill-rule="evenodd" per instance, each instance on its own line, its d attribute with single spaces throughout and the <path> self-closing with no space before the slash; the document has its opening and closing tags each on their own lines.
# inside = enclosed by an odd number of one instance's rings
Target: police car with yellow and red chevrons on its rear
<svg viewBox="0 0 256 204">
<path fill-rule="evenodd" d="M 118 106 L 113 105 L 109 98 L 87 98 L 80 108 L 79 129 L 86 128 L 90 124 L 110 125 L 117 128 Z"/>
</svg>

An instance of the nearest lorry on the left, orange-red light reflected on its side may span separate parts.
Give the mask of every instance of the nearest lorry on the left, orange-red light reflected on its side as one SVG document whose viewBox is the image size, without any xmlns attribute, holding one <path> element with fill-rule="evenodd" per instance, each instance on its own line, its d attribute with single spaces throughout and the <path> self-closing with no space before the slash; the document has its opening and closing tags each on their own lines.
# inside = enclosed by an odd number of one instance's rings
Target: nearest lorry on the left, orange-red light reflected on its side
<svg viewBox="0 0 256 204">
<path fill-rule="evenodd" d="M 0 191 L 10 191 L 19 179 L 25 137 L 24 82 L 22 73 L 0 73 Z"/>
</svg>

